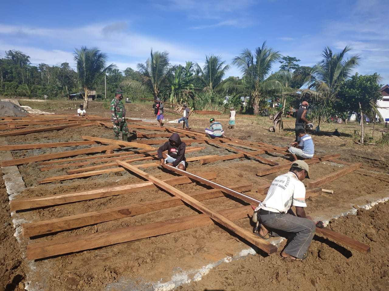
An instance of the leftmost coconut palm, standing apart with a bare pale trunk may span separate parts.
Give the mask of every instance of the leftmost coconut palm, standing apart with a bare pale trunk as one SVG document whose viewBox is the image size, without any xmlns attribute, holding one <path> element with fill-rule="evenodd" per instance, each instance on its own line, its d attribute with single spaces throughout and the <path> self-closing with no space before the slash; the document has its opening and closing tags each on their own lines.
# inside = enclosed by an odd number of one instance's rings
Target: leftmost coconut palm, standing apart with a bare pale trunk
<svg viewBox="0 0 389 291">
<path fill-rule="evenodd" d="M 77 64 L 78 81 L 84 89 L 84 108 L 88 108 L 88 90 L 96 88 L 104 78 L 105 72 L 116 68 L 114 64 L 105 66 L 108 55 L 97 47 L 75 49 L 74 61 Z"/>
</svg>

